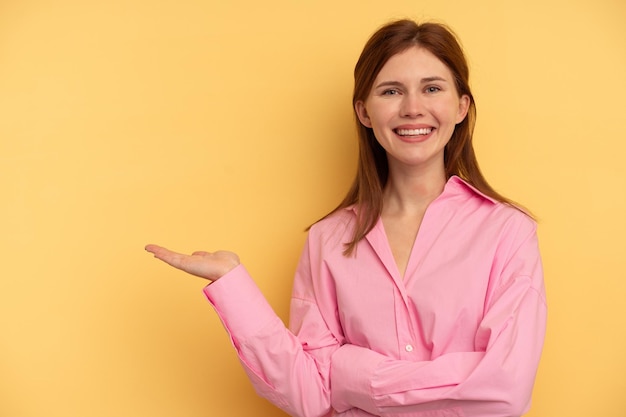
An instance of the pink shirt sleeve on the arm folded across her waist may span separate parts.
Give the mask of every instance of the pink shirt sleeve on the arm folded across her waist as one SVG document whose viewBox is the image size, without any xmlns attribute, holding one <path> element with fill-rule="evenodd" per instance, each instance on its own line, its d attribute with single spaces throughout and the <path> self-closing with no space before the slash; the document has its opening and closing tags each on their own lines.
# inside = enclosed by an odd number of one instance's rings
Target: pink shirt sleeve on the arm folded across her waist
<svg viewBox="0 0 626 417">
<path fill-rule="evenodd" d="M 486 300 L 475 351 L 410 362 L 346 344 L 332 357 L 333 407 L 388 417 L 525 413 L 543 347 L 547 307 L 534 223 L 516 240 L 507 250 L 497 288 Z"/>
</svg>

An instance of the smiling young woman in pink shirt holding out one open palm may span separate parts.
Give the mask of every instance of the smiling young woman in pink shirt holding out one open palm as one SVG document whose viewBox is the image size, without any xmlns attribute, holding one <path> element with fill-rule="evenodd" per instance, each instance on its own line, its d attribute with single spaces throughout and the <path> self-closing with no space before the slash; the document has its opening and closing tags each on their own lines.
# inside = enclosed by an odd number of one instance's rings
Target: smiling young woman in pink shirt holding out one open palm
<svg viewBox="0 0 626 417">
<path fill-rule="evenodd" d="M 546 300 L 536 225 L 485 181 L 452 33 L 401 20 L 355 68 L 354 184 L 315 223 L 286 328 L 231 252 L 147 250 L 212 281 L 257 392 L 294 416 L 520 416 Z"/>
</svg>

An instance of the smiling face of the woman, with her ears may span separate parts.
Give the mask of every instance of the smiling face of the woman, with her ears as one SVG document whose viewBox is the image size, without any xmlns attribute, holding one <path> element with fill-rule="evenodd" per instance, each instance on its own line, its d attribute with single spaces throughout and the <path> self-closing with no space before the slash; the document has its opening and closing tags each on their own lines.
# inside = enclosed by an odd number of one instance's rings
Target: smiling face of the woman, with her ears
<svg viewBox="0 0 626 417">
<path fill-rule="evenodd" d="M 443 167 L 444 148 L 463 121 L 469 97 L 459 97 L 450 69 L 427 49 L 392 56 L 355 109 L 387 152 L 390 167 Z"/>
</svg>

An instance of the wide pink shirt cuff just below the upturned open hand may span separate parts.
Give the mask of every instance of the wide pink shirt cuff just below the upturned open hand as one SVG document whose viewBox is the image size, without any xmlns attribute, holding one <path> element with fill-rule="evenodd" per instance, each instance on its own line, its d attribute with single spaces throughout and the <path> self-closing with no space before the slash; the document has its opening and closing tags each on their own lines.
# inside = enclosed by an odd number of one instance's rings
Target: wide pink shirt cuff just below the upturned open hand
<svg viewBox="0 0 626 417">
<path fill-rule="evenodd" d="M 243 265 L 238 265 L 203 289 L 233 342 L 256 334 L 276 314 Z M 235 337 L 236 336 L 236 337 Z"/>
</svg>

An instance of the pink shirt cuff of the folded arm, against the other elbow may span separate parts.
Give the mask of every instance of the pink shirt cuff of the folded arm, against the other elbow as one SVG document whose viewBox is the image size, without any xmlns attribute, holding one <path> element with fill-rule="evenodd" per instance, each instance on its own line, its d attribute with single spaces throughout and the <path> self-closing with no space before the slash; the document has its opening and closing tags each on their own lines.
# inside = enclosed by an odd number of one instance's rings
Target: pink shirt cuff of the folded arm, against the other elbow
<svg viewBox="0 0 626 417">
<path fill-rule="evenodd" d="M 335 410 L 344 412 L 356 407 L 378 415 L 372 381 L 385 357 L 370 349 L 343 345 L 331 359 L 331 402 Z"/>
</svg>

